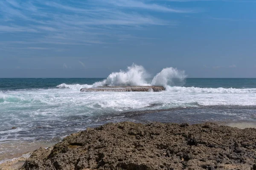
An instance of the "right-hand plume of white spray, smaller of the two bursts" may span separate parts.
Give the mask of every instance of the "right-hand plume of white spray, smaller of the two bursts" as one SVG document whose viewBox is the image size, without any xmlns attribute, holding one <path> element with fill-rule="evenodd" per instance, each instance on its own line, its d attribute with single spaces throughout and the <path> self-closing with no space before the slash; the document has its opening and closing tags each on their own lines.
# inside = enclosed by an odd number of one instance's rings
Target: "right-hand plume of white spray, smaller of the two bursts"
<svg viewBox="0 0 256 170">
<path fill-rule="evenodd" d="M 151 85 L 160 85 L 164 88 L 168 86 L 182 86 L 185 84 L 185 71 L 179 71 L 177 68 L 164 68 L 153 78 Z"/>
</svg>

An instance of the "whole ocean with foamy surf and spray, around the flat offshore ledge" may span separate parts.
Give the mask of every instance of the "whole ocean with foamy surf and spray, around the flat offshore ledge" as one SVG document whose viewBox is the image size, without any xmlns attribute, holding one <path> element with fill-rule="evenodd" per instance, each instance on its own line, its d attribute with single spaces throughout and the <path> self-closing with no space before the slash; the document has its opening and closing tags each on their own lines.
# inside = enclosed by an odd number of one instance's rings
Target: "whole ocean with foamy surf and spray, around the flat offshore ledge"
<svg viewBox="0 0 256 170">
<path fill-rule="evenodd" d="M 163 85 L 162 92 L 80 92 L 99 85 Z M 186 78 L 142 66 L 108 78 L 0 79 L 0 161 L 109 122 L 256 122 L 256 79 Z"/>
</svg>

